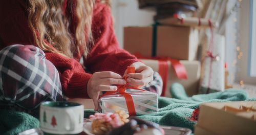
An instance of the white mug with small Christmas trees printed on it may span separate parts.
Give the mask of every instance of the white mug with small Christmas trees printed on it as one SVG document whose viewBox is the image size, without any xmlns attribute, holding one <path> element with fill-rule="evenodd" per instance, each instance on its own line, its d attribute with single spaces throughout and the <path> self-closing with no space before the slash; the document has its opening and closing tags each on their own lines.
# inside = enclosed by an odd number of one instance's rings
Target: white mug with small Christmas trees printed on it
<svg viewBox="0 0 256 135">
<path fill-rule="evenodd" d="M 41 103 L 40 128 L 47 134 L 82 132 L 83 105 L 67 101 Z"/>
</svg>

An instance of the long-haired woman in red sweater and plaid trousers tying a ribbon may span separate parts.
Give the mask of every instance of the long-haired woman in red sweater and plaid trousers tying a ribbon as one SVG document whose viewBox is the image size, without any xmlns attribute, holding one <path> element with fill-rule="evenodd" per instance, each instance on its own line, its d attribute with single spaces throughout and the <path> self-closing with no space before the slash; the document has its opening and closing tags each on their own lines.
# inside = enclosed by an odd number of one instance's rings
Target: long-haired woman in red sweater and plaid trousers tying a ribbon
<svg viewBox="0 0 256 135">
<path fill-rule="evenodd" d="M 107 2 L 0 1 L 0 103 L 92 98 L 97 109 L 102 91 L 126 83 L 127 66 L 136 68 L 129 85 L 152 81 L 153 70 L 119 48 Z"/>
</svg>

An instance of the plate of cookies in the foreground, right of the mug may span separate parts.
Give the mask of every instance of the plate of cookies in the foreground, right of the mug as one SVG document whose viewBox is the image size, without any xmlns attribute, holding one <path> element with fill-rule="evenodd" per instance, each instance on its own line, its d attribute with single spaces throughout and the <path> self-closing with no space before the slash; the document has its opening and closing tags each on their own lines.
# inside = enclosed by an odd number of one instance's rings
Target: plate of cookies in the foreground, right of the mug
<svg viewBox="0 0 256 135">
<path fill-rule="evenodd" d="M 164 134 L 156 123 L 130 117 L 125 111 L 115 113 L 95 113 L 84 119 L 84 132 L 89 135 L 102 134 Z"/>
</svg>

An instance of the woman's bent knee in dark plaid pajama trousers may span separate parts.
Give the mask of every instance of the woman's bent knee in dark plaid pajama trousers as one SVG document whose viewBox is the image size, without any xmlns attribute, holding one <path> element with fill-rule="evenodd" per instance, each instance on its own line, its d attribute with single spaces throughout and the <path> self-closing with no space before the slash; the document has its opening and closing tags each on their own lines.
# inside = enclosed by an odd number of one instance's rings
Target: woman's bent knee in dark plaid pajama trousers
<svg viewBox="0 0 256 135">
<path fill-rule="evenodd" d="M 63 99 L 58 71 L 42 50 L 15 44 L 0 51 L 1 104 L 34 109 Z"/>
</svg>

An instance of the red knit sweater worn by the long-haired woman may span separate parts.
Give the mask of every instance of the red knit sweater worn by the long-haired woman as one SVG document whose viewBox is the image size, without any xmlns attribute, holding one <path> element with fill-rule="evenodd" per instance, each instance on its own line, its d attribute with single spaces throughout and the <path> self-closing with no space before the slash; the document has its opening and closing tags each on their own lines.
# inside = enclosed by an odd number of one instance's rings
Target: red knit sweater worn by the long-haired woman
<svg viewBox="0 0 256 135">
<path fill-rule="evenodd" d="M 35 44 L 28 26 L 27 9 L 25 0 L 0 1 L 1 50 L 11 44 Z M 94 5 L 92 32 L 95 44 L 84 58 L 84 66 L 91 73 L 113 71 L 123 75 L 128 65 L 138 61 L 135 56 L 119 48 L 111 10 L 99 2 Z M 69 98 L 88 98 L 87 83 L 92 74 L 86 73 L 77 61 L 81 56 L 71 59 L 56 53 L 45 53 L 59 72 L 64 94 Z"/>
</svg>

